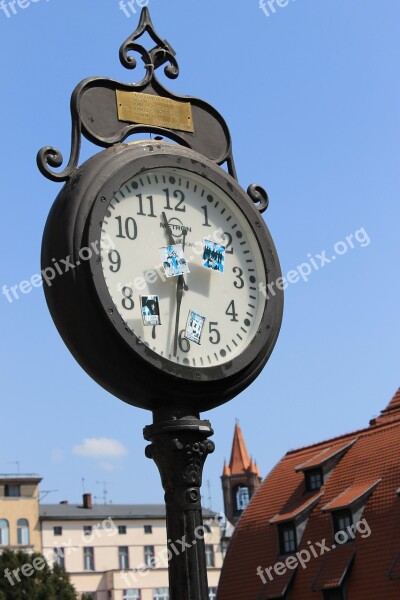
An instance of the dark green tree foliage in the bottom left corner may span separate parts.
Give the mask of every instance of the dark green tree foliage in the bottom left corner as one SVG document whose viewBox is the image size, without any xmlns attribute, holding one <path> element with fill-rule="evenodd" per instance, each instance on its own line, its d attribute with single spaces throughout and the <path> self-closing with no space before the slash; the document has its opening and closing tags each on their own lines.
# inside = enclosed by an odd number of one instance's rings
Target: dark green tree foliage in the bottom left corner
<svg viewBox="0 0 400 600">
<path fill-rule="evenodd" d="M 0 600 L 28 598 L 77 600 L 78 596 L 64 569 L 58 565 L 51 569 L 41 554 L 5 550 L 0 554 Z"/>
</svg>

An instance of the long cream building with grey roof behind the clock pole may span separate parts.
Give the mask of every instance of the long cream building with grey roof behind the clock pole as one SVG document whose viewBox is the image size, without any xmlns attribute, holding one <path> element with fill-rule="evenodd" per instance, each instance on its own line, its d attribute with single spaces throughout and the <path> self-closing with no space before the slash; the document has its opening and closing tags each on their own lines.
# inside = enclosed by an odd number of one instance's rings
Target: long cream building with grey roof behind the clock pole
<svg viewBox="0 0 400 600">
<path fill-rule="evenodd" d="M 40 507 L 43 553 L 64 566 L 80 595 L 95 600 L 168 600 L 168 551 L 162 505 L 97 505 L 85 494 L 81 505 Z M 220 522 L 204 511 L 209 598 L 217 594 L 222 567 Z M 184 551 L 179 540 L 171 551 Z"/>
</svg>

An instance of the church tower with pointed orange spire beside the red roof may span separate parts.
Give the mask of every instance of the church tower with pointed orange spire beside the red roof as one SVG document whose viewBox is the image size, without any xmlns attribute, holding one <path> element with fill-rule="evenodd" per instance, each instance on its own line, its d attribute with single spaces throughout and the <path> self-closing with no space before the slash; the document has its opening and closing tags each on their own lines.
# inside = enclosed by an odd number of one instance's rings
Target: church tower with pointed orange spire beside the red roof
<svg viewBox="0 0 400 600">
<path fill-rule="evenodd" d="M 224 463 L 222 491 L 227 519 L 235 525 L 261 484 L 257 465 L 249 457 L 239 423 L 235 425 L 229 465 Z"/>
</svg>

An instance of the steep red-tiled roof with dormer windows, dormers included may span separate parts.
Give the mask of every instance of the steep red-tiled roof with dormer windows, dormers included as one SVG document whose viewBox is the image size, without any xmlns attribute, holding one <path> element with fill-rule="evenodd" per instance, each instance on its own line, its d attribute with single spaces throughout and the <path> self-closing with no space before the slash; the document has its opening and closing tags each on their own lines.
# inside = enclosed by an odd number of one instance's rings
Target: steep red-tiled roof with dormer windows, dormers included
<svg viewBox="0 0 400 600">
<path fill-rule="evenodd" d="M 400 597 L 400 389 L 361 431 L 290 451 L 244 511 L 218 600 Z"/>
</svg>

